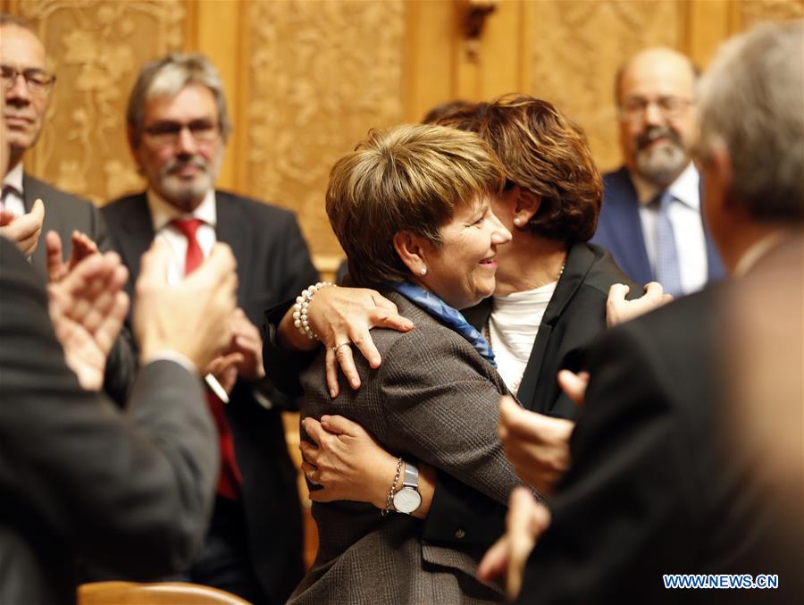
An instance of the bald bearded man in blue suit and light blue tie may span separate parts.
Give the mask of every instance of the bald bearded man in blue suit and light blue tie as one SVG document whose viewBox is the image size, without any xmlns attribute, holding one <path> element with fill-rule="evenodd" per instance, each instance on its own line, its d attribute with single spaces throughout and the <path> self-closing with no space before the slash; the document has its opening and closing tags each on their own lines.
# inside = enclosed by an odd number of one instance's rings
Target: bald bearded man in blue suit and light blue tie
<svg viewBox="0 0 804 605">
<path fill-rule="evenodd" d="M 674 295 L 723 276 L 701 213 L 700 176 L 691 161 L 695 67 L 669 48 L 634 55 L 616 77 L 624 166 L 603 175 L 594 243 L 639 283 Z"/>
</svg>

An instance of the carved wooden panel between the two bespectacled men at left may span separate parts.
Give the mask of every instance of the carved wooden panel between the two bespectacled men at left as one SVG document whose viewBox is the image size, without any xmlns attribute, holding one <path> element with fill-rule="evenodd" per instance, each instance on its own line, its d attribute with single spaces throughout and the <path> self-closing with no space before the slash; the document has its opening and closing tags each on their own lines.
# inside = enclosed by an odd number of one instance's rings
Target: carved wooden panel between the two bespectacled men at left
<svg viewBox="0 0 804 605">
<path fill-rule="evenodd" d="M 96 203 L 140 188 L 125 106 L 140 64 L 181 48 L 184 3 L 39 0 L 21 3 L 19 14 L 58 77 L 27 169 Z"/>
</svg>

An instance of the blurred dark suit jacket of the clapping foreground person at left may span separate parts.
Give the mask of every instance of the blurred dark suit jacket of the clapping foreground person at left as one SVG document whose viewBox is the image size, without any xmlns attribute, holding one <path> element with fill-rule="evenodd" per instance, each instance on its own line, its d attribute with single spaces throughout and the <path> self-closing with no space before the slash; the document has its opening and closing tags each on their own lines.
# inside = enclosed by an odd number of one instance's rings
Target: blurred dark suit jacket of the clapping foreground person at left
<svg viewBox="0 0 804 605">
<path fill-rule="evenodd" d="M 0 602 L 72 603 L 75 558 L 139 580 L 188 565 L 212 508 L 197 375 L 144 367 L 126 415 L 64 364 L 44 286 L 0 238 Z"/>
</svg>

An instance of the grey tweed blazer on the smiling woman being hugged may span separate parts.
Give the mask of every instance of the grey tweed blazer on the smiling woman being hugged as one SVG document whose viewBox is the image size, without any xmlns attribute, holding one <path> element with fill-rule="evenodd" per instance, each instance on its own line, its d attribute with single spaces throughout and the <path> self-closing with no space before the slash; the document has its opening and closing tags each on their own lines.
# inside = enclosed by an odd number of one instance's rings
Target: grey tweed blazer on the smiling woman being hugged
<svg viewBox="0 0 804 605">
<path fill-rule="evenodd" d="M 382 366 L 373 371 L 356 354 L 363 386 L 353 391 L 343 382 L 337 399 L 327 391 L 322 353 L 301 376 L 302 418 L 347 416 L 396 455 L 436 466 L 507 502 L 522 482 L 497 436 L 504 382 L 458 333 L 396 292 L 383 294 L 415 330 L 372 332 Z M 415 517 L 383 518 L 372 505 L 352 501 L 314 503 L 313 516 L 318 556 L 290 603 L 503 601 L 498 587 L 475 578 L 482 550 L 423 542 L 423 522 Z"/>
</svg>

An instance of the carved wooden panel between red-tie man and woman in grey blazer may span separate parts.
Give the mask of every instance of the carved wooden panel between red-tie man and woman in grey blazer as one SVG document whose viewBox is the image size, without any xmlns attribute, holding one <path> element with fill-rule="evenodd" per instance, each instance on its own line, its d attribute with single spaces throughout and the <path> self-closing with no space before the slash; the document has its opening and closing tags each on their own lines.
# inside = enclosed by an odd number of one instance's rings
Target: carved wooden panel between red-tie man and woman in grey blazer
<svg viewBox="0 0 804 605">
<path fill-rule="evenodd" d="M 405 4 L 255 2 L 248 23 L 245 189 L 295 210 L 314 253 L 338 256 L 327 178 L 370 128 L 402 120 Z"/>
</svg>

